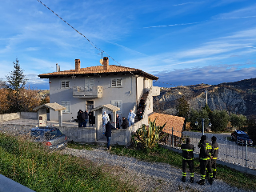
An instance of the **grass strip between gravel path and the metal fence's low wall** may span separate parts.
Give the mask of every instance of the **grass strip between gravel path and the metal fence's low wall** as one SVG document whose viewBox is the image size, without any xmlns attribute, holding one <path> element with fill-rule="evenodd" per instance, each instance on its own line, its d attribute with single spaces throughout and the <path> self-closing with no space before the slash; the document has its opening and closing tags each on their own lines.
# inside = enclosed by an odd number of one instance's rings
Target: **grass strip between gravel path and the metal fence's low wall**
<svg viewBox="0 0 256 192">
<path fill-rule="evenodd" d="M 123 146 L 113 146 L 111 153 L 138 158 L 139 160 L 146 162 L 164 162 L 182 168 L 182 155 L 162 147 L 154 150 L 135 150 Z M 199 166 L 197 158 L 194 160 L 194 167 L 196 166 Z M 199 174 L 199 170 L 194 169 L 194 171 Z M 238 172 L 228 166 L 218 165 L 217 177 L 228 183 L 230 186 L 236 186 L 243 190 L 256 189 L 256 176 Z"/>
</svg>

